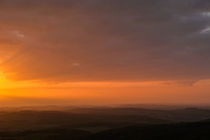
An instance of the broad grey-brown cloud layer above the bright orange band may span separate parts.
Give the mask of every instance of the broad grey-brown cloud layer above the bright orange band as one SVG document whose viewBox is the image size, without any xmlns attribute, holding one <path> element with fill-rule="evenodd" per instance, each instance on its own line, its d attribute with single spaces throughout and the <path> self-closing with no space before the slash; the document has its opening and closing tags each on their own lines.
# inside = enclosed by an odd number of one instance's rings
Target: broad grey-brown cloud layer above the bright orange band
<svg viewBox="0 0 210 140">
<path fill-rule="evenodd" d="M 206 79 L 209 7 L 208 0 L 2 0 L 0 41 L 12 46 L 1 47 L 10 56 L 3 67 L 22 80 Z"/>
</svg>

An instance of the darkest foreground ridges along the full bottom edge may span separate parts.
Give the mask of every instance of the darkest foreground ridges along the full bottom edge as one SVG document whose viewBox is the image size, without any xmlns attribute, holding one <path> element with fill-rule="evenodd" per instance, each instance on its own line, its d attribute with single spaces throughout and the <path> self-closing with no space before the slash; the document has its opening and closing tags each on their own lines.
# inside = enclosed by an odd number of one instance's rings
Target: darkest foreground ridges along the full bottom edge
<svg viewBox="0 0 210 140">
<path fill-rule="evenodd" d="M 83 130 L 43 129 L 1 132 L 0 140 L 209 140 L 210 123 L 139 125 L 97 133 Z"/>
</svg>

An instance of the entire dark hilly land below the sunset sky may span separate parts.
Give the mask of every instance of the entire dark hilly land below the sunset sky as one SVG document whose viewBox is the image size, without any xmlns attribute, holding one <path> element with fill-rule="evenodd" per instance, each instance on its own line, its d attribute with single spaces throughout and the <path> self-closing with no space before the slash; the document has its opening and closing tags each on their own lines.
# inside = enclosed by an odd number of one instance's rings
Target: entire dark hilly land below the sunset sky
<svg viewBox="0 0 210 140">
<path fill-rule="evenodd" d="M 1 111 L 0 140 L 210 140 L 210 110 Z"/>
</svg>

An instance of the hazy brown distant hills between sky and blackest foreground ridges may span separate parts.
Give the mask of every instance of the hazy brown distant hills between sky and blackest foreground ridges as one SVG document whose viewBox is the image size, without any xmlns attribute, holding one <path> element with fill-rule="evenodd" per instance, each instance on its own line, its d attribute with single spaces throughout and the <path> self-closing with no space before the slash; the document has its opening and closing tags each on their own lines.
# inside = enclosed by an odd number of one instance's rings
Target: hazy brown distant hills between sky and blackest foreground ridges
<svg viewBox="0 0 210 140">
<path fill-rule="evenodd" d="M 1 111 L 0 131 L 69 127 L 96 132 L 135 124 L 197 122 L 209 118 L 210 110 L 196 108 L 157 110 L 107 107 L 65 111 Z"/>
</svg>

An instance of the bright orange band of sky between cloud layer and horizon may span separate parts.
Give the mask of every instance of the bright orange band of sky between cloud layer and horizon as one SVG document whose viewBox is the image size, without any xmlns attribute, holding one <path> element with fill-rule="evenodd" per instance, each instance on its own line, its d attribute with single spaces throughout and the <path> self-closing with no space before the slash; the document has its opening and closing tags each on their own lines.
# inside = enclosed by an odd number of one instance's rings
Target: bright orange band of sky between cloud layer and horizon
<svg viewBox="0 0 210 140">
<path fill-rule="evenodd" d="M 0 77 L 1 105 L 200 104 L 208 102 L 210 90 L 209 80 L 185 85 L 177 81 L 62 83 L 12 81 L 2 72 Z"/>
</svg>

